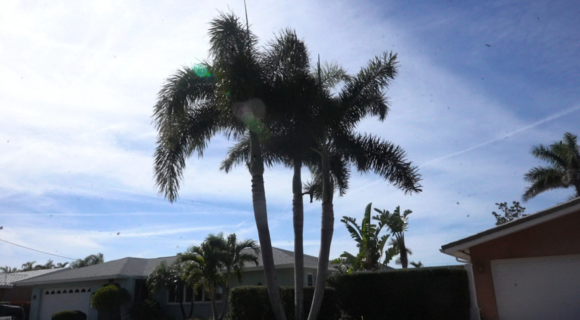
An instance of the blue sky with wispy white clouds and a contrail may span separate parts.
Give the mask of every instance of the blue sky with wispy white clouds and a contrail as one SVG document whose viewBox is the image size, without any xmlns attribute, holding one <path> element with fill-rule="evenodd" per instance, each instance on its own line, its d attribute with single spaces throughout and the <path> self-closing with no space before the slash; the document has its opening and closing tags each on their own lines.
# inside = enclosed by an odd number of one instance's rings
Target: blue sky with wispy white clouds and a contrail
<svg viewBox="0 0 580 320">
<path fill-rule="evenodd" d="M 354 252 L 340 217 L 367 203 L 411 209 L 411 260 L 456 264 L 441 245 L 494 226 L 537 165 L 531 146 L 580 133 L 580 3 L 572 1 L 254 1 L 264 44 L 291 27 L 312 56 L 351 74 L 386 51 L 399 75 L 385 122 L 358 130 L 404 147 L 423 175 L 405 196 L 353 172 L 335 200 L 331 256 Z M 217 137 L 187 163 L 179 201 L 154 188 L 151 114 L 164 79 L 206 59 L 208 22 L 235 1 L 11 1 L 0 12 L 0 239 L 60 256 L 170 256 L 210 232 L 257 239 L 250 176 L 219 171 Z M 291 172 L 264 176 L 275 246 L 292 249 Z M 303 177 L 307 179 L 307 174 Z M 565 201 L 546 192 L 528 213 Z M 307 199 L 306 199 L 307 200 Z M 318 253 L 320 203 L 305 205 L 305 252 Z M 0 266 L 64 258 L 0 242 Z"/>
</svg>

